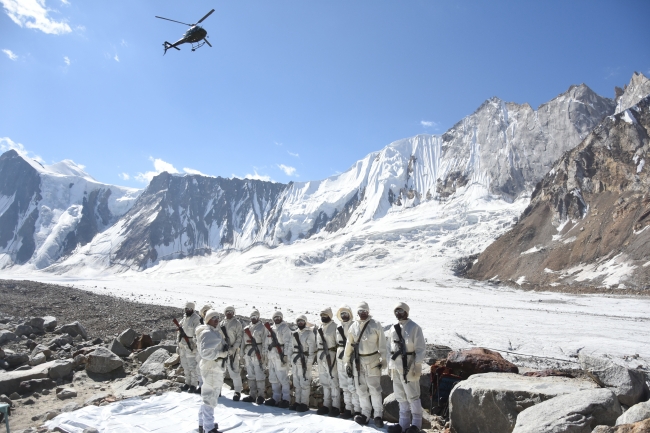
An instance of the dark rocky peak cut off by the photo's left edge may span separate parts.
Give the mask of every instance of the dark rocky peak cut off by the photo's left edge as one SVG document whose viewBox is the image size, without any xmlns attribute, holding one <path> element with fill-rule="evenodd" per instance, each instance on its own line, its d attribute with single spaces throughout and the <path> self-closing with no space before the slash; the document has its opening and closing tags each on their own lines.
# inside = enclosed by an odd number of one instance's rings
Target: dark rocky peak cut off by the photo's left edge
<svg viewBox="0 0 650 433">
<path fill-rule="evenodd" d="M 6 209 L 0 209 L 0 251 L 8 250 L 15 263 L 27 262 L 35 250 L 34 233 L 41 200 L 41 178 L 15 150 L 0 156 L 0 197 L 13 197 Z M 18 250 L 12 244 L 21 244 Z"/>
</svg>

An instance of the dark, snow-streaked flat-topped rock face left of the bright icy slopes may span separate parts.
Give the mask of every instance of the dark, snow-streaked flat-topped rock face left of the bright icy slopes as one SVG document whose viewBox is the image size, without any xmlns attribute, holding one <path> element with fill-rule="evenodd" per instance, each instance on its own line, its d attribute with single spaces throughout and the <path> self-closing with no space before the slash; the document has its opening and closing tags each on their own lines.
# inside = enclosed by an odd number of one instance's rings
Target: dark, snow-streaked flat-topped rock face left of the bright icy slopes
<svg viewBox="0 0 650 433">
<path fill-rule="evenodd" d="M 114 261 L 146 267 L 158 260 L 237 248 L 250 230 L 260 240 L 272 227 L 286 185 L 251 179 L 156 176 L 123 218 L 127 239 Z M 247 245 L 246 245 L 247 246 Z"/>
</svg>

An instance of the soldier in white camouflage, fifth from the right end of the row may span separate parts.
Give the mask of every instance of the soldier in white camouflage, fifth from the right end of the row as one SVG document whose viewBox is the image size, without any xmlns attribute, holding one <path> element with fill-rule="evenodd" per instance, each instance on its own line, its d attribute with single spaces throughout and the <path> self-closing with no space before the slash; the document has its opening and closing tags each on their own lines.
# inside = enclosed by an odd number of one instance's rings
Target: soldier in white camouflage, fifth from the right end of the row
<svg viewBox="0 0 650 433">
<path fill-rule="evenodd" d="M 304 320 L 306 326 L 303 329 L 294 331 L 293 335 L 298 334 L 307 365 L 305 366 L 306 371 L 304 371 L 299 357 L 298 342 L 296 341 L 296 338 L 292 336 L 293 354 L 291 355 L 291 377 L 293 379 L 293 387 L 296 393 L 296 403 L 306 404 L 309 406 L 311 366 L 314 364 L 314 356 L 316 355 L 316 337 L 314 336 L 314 328 L 310 326 L 311 324 L 307 323 L 307 317 L 298 316 L 296 321 L 298 320 Z"/>
</svg>

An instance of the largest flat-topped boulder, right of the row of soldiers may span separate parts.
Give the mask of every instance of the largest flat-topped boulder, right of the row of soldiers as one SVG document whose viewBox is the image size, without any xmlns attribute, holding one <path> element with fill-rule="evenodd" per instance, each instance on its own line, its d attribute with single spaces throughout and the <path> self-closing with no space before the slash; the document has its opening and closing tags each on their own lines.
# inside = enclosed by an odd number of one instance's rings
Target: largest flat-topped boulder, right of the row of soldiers
<svg viewBox="0 0 650 433">
<path fill-rule="evenodd" d="M 551 398 L 596 388 L 590 380 L 484 373 L 459 382 L 449 397 L 456 433 L 509 433 L 524 409 Z"/>
</svg>

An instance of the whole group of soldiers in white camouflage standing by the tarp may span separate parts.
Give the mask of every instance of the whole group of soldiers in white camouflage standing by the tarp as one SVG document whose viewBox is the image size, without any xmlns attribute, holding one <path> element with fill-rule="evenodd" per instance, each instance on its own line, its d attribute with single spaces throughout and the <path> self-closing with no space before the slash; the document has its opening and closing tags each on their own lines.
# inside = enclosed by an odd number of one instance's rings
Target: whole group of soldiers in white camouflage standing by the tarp
<svg viewBox="0 0 650 433">
<path fill-rule="evenodd" d="M 312 368 L 318 364 L 323 387 L 320 415 L 350 419 L 361 425 L 373 419 L 384 427 L 381 371 L 388 362 L 395 398 L 399 403 L 399 423 L 388 426 L 390 433 L 417 433 L 422 428 L 419 379 L 425 356 L 422 329 L 409 319 L 409 306 L 398 303 L 393 310 L 397 323 L 390 333 L 370 315 L 366 302 L 352 309 L 342 306 L 334 319 L 332 309 L 320 312 L 320 326 L 307 317 L 296 317 L 292 331 L 281 311 L 273 314 L 273 323 L 262 323 L 259 311 L 250 313 L 250 324 L 243 326 L 235 317 L 235 308 L 226 307 L 224 320 L 212 306 L 199 313 L 195 305 L 185 305 L 180 322 L 179 354 L 185 372 L 184 390 L 200 392 L 199 432 L 216 433 L 214 408 L 225 373 L 234 385 L 234 401 L 277 406 L 288 410 L 309 410 Z M 386 339 L 389 337 L 389 343 Z M 240 363 L 246 367 L 250 393 L 241 398 L 243 383 Z M 268 374 L 272 396 L 265 398 Z M 290 381 L 294 402 L 290 403 Z M 345 410 L 341 412 L 341 394 Z M 374 413 L 373 413 L 374 412 Z M 371 416 L 373 418 L 371 418 Z"/>
</svg>

